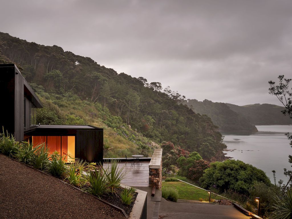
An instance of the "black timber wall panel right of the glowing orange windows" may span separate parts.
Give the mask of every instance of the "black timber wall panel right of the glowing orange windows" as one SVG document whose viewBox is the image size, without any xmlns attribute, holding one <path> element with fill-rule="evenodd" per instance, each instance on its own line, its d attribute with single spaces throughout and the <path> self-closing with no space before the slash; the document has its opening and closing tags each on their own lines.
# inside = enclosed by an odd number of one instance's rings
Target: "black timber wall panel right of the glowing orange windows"
<svg viewBox="0 0 292 219">
<path fill-rule="evenodd" d="M 75 157 L 102 163 L 103 130 L 77 130 Z"/>
</svg>

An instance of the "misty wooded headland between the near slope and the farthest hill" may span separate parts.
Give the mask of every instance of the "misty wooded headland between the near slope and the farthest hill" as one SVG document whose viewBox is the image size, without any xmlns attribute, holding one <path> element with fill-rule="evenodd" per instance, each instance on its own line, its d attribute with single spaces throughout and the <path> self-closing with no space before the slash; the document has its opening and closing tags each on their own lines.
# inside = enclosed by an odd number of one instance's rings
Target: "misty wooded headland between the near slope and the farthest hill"
<svg viewBox="0 0 292 219">
<path fill-rule="evenodd" d="M 224 131 L 258 131 L 256 126 L 244 118 L 241 114 L 234 112 L 225 103 L 212 102 L 210 100 L 184 101 L 194 112 L 206 114 L 213 123 Z"/>
</svg>

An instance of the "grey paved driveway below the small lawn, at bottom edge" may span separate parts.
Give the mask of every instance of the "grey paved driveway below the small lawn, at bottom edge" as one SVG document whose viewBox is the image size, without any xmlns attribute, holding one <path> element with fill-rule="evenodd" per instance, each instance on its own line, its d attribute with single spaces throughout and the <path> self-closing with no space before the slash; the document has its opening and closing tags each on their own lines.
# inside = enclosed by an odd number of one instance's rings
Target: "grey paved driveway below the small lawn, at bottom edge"
<svg viewBox="0 0 292 219">
<path fill-rule="evenodd" d="M 249 219 L 233 206 L 166 201 L 161 198 L 159 218 L 165 219 Z"/>
</svg>

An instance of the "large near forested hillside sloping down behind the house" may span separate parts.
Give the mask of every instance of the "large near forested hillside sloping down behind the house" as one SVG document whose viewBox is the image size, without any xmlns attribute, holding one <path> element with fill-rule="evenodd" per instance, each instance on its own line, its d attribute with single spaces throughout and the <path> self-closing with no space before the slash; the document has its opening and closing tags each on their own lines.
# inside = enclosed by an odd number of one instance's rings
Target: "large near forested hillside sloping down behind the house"
<svg viewBox="0 0 292 219">
<path fill-rule="evenodd" d="M 182 95 L 169 87 L 163 90 L 159 82 L 118 74 L 61 47 L 30 43 L 5 33 L 0 33 L 0 51 L 2 63 L 12 61 L 22 67 L 25 79 L 46 103 L 42 110 L 59 115 L 60 123 L 80 124 L 98 117 L 140 147 L 144 143 L 123 131 L 125 126 L 155 142 L 171 141 L 197 151 L 205 159 L 224 158 L 226 145 L 211 119 L 194 113 L 181 103 Z M 42 115 L 41 110 L 38 113 Z"/>
</svg>

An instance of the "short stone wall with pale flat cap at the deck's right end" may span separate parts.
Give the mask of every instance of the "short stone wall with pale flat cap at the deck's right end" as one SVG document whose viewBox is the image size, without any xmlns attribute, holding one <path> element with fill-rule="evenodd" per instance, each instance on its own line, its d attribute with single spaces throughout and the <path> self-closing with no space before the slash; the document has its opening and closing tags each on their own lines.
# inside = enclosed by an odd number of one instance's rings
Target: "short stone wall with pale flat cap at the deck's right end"
<svg viewBox="0 0 292 219">
<path fill-rule="evenodd" d="M 162 182 L 162 149 L 155 149 L 149 164 L 149 186 L 161 190 Z"/>
</svg>

